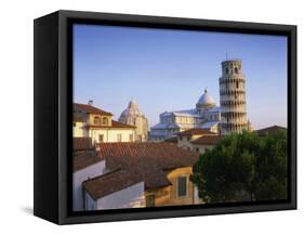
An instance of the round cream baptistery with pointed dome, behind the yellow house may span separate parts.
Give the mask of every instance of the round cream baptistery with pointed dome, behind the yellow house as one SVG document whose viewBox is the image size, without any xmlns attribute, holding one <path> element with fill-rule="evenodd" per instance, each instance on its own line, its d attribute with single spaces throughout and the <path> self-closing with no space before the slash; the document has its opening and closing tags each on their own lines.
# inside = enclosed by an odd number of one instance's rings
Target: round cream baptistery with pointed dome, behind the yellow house
<svg viewBox="0 0 304 235">
<path fill-rule="evenodd" d="M 121 113 L 118 120 L 122 123 L 136 127 L 136 142 L 145 142 L 148 140 L 148 119 L 140 110 L 138 105 L 134 100 L 129 102 L 128 107 Z"/>
</svg>

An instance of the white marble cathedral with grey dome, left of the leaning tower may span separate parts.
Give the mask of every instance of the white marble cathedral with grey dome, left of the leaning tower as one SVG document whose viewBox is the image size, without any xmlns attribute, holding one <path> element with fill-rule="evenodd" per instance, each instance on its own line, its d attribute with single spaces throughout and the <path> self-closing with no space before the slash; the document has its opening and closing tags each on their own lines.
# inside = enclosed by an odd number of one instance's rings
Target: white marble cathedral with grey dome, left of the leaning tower
<svg viewBox="0 0 304 235">
<path fill-rule="evenodd" d="M 159 123 L 150 128 L 149 139 L 163 141 L 194 128 L 208 129 L 217 133 L 220 120 L 220 107 L 216 106 L 214 99 L 204 89 L 204 93 L 198 100 L 196 108 L 160 114 Z"/>
</svg>

